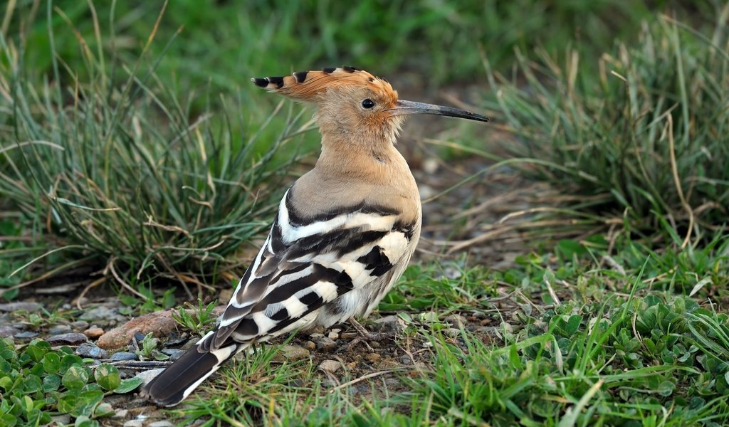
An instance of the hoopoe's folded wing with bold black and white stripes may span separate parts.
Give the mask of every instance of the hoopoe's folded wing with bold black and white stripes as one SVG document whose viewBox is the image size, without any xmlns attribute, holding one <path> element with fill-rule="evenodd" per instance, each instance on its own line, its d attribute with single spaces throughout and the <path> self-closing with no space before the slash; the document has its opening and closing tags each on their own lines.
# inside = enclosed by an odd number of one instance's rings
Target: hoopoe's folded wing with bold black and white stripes
<svg viewBox="0 0 729 427">
<path fill-rule="evenodd" d="M 388 273 L 410 255 L 416 224 L 359 205 L 301 219 L 286 192 L 276 222 L 223 314 L 211 349 L 305 326 L 315 310 Z"/>
</svg>

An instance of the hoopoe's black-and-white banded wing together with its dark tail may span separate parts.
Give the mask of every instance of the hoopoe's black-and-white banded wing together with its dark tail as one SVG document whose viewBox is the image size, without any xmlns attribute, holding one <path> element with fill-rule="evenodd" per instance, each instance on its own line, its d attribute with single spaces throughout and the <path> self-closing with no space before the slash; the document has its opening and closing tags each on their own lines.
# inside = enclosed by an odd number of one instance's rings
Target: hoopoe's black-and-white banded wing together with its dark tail
<svg viewBox="0 0 729 427">
<path fill-rule="evenodd" d="M 289 192 L 219 326 L 144 388 L 147 399 L 174 406 L 254 342 L 367 316 L 405 270 L 419 214 L 404 223 L 399 212 L 362 202 L 305 219 Z"/>
</svg>

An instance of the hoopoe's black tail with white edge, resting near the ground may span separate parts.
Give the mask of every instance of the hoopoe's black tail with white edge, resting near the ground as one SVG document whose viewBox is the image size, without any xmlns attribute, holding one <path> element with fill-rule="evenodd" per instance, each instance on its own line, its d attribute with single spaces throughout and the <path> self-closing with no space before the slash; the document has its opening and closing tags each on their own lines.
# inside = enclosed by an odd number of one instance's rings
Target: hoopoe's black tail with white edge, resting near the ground
<svg viewBox="0 0 729 427">
<path fill-rule="evenodd" d="M 220 365 L 235 356 L 246 345 L 229 341 L 230 345 L 211 350 L 214 331 L 203 337 L 194 348 L 187 350 L 160 375 L 147 384 L 141 396 L 163 407 L 174 407 L 183 401 Z"/>
</svg>

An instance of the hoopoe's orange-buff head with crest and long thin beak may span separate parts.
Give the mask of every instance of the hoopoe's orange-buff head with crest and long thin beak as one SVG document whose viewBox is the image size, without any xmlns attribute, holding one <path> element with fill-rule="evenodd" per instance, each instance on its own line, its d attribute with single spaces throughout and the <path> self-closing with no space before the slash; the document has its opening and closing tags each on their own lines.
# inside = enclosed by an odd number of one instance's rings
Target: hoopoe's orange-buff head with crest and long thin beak
<svg viewBox="0 0 729 427">
<path fill-rule="evenodd" d="M 461 109 L 399 100 L 397 91 L 385 79 L 350 66 L 251 80 L 259 87 L 297 101 L 315 103 L 317 121 L 324 135 L 385 136 L 394 140 L 403 117 L 408 114 L 437 114 L 488 122 L 480 114 Z"/>
</svg>

